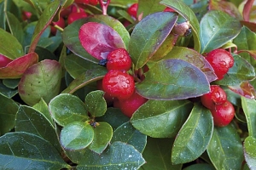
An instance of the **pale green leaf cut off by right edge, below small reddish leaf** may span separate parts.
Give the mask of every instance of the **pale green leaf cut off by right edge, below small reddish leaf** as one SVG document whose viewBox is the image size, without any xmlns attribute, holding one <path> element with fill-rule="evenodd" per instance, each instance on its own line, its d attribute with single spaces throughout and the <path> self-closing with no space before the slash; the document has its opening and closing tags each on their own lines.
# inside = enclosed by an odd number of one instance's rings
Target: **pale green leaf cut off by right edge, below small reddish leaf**
<svg viewBox="0 0 256 170">
<path fill-rule="evenodd" d="M 242 111 L 247 118 L 247 128 L 249 136 L 256 138 L 256 101 L 241 97 Z"/>
</svg>

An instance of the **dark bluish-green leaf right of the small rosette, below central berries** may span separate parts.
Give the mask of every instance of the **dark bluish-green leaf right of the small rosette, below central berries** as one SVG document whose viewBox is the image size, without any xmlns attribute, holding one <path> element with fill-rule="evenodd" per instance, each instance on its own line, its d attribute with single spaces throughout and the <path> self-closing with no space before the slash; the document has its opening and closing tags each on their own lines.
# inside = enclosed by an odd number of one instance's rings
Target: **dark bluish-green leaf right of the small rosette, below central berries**
<svg viewBox="0 0 256 170">
<path fill-rule="evenodd" d="M 113 139 L 111 142 L 121 141 L 131 144 L 136 150 L 143 153 L 147 144 L 147 135 L 140 133 L 131 125 L 131 122 L 125 122 L 113 132 Z"/>
</svg>

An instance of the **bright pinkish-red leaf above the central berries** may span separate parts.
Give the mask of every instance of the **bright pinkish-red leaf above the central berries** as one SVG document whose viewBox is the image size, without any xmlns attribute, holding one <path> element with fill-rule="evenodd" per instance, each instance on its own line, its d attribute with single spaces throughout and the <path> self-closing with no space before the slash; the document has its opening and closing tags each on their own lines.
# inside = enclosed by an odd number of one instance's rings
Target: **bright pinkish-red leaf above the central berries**
<svg viewBox="0 0 256 170">
<path fill-rule="evenodd" d="M 84 49 L 96 59 L 106 59 L 109 52 L 125 48 L 125 42 L 110 26 L 88 22 L 79 30 L 79 40 Z"/>
</svg>

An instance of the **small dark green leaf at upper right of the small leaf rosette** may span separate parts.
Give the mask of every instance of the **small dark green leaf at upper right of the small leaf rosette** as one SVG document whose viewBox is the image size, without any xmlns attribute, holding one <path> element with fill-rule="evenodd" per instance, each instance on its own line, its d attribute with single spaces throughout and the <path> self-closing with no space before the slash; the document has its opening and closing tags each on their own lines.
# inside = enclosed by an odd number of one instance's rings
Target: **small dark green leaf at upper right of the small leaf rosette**
<svg viewBox="0 0 256 170">
<path fill-rule="evenodd" d="M 96 90 L 85 97 L 85 106 L 91 116 L 103 116 L 107 111 L 107 102 L 104 99 L 104 92 Z"/>
</svg>

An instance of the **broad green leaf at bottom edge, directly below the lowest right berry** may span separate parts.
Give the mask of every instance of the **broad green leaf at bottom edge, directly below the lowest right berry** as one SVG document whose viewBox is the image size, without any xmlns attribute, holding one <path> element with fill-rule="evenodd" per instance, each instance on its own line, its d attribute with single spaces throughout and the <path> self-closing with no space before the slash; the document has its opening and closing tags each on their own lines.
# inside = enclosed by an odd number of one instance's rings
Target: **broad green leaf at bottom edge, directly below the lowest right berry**
<svg viewBox="0 0 256 170">
<path fill-rule="evenodd" d="M 214 127 L 207 153 L 216 169 L 240 169 L 243 153 L 236 128 Z"/>
</svg>

